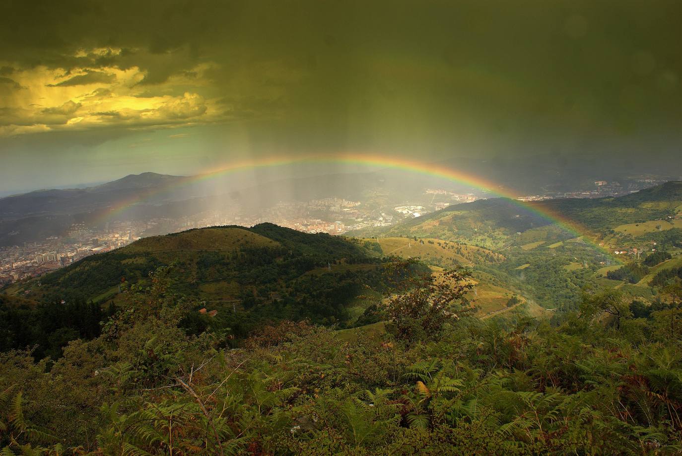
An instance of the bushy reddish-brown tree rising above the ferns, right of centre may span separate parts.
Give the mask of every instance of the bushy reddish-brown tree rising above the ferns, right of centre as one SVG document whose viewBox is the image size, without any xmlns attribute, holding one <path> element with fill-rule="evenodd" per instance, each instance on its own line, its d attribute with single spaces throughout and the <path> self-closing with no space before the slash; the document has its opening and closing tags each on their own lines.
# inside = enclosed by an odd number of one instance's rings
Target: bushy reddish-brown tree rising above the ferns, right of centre
<svg viewBox="0 0 682 456">
<path fill-rule="evenodd" d="M 445 270 L 421 274 L 402 285 L 405 292 L 389 298 L 387 328 L 398 339 L 437 339 L 445 324 L 472 310 L 466 292 L 473 287 L 467 271 Z"/>
</svg>

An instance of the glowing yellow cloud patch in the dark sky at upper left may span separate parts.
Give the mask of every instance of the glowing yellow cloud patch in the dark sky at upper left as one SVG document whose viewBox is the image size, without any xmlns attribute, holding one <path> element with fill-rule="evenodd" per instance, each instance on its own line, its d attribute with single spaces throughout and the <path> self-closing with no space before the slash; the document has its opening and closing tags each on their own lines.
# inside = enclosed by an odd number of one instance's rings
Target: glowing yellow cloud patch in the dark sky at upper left
<svg viewBox="0 0 682 456">
<path fill-rule="evenodd" d="M 81 49 L 76 57 L 119 55 L 120 48 Z M 0 66 L 3 63 L 0 62 Z M 3 97 L 0 136 L 31 132 L 83 130 L 102 126 L 159 128 L 212 122 L 224 112 L 215 97 L 199 91 L 209 86 L 201 63 L 190 72 L 173 75 L 162 84 L 140 85 L 145 72 L 137 66 L 121 69 L 14 70 L 9 96 Z"/>
</svg>

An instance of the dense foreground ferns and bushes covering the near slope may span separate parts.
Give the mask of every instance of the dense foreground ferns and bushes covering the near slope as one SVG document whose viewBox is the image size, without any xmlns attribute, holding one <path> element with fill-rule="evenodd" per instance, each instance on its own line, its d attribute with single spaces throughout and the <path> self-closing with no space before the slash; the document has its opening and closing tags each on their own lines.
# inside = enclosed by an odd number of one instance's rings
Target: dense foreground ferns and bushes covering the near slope
<svg viewBox="0 0 682 456">
<path fill-rule="evenodd" d="M 282 322 L 233 350 L 225 332 L 185 328 L 197 302 L 170 276 L 55 362 L 1 355 L 3 454 L 682 451 L 674 287 L 655 308 L 585 291 L 550 326 L 473 317 L 464 272 L 395 274 L 385 333 Z"/>
</svg>

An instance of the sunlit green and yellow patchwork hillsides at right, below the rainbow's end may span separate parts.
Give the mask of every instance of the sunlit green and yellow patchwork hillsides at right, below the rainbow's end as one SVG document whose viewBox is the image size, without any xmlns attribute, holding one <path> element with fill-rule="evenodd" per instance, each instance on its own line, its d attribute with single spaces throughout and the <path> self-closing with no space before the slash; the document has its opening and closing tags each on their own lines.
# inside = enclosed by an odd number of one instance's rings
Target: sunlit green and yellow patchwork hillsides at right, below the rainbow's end
<svg viewBox="0 0 682 456">
<path fill-rule="evenodd" d="M 361 233 L 379 236 L 375 242 L 396 255 L 419 256 L 436 266 L 449 266 L 454 261 L 452 255 L 458 251 L 451 246 L 485 248 L 489 259 L 499 255 L 495 261 L 479 257 L 465 264 L 494 276 L 504 289 L 517 290 L 541 306 L 560 311 L 576 310 L 586 287 L 618 286 L 651 301 L 655 292 L 648 287 L 653 272 L 647 275 L 646 283 L 637 286 L 607 279 L 607 272 L 615 277 L 615 270 L 632 261 L 634 248 L 640 252 L 638 261 L 643 261 L 647 252 L 660 249 L 673 255 L 681 252 L 682 229 L 678 225 L 682 221 L 682 182 L 668 182 L 618 198 L 557 199 L 530 203 L 529 207 L 534 210 L 509 199 L 481 200 Z M 576 238 L 575 233 L 539 216 L 545 210 L 576 220 L 589 233 Z M 424 246 L 415 239 L 434 244 Z M 595 246 L 599 243 L 604 248 Z M 613 255 L 614 250 L 628 253 Z"/>
</svg>

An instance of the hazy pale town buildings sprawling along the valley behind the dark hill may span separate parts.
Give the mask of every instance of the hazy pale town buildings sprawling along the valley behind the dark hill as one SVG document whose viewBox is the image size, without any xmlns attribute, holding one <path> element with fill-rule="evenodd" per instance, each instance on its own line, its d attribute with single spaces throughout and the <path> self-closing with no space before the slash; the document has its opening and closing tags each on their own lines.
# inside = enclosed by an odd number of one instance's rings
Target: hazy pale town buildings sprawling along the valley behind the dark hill
<svg viewBox="0 0 682 456">
<path fill-rule="evenodd" d="M 520 201 L 542 201 L 552 198 L 597 198 L 621 196 L 664 181 L 642 178 L 627 184 L 599 180 L 589 190 L 565 193 L 547 192 L 524 195 Z M 175 233 L 192 228 L 222 225 L 250 227 L 258 223 L 277 225 L 304 233 L 339 235 L 367 227 L 387 227 L 406 218 L 416 218 L 447 208 L 451 204 L 470 203 L 486 198 L 484 193 L 454 193 L 441 188 L 426 188 L 419 201 L 399 205 L 385 201 L 384 195 L 368 193 L 366 201 L 343 198 L 282 202 L 254 212 L 254 208 L 211 211 L 198 216 L 152 218 L 150 220 L 111 220 L 102 227 L 74 224 L 63 236 L 46 238 L 20 246 L 0 247 L 0 286 L 46 274 L 68 266 L 79 259 L 112 251 L 147 236 Z"/>
</svg>

